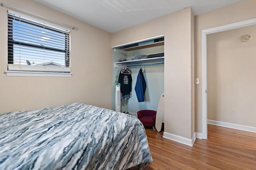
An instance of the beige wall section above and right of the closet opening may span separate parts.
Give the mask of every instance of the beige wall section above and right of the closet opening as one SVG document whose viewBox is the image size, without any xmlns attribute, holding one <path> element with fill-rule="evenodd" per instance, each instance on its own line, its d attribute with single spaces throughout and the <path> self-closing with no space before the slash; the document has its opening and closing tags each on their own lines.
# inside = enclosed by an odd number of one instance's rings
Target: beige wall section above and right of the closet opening
<svg viewBox="0 0 256 170">
<path fill-rule="evenodd" d="M 191 8 L 112 33 L 112 46 L 164 34 L 164 130 L 191 139 Z"/>
</svg>

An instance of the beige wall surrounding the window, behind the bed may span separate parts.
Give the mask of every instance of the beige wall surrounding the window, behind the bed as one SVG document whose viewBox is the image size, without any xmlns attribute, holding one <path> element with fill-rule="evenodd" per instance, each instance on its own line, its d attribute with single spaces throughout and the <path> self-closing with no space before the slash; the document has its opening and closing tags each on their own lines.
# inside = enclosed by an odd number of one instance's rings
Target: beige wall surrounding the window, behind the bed
<svg viewBox="0 0 256 170">
<path fill-rule="evenodd" d="M 7 77 L 7 8 L 0 7 L 0 113 L 83 102 L 112 109 L 110 33 L 32 0 L 6 4 L 74 25 L 70 62 L 72 77 Z"/>
</svg>

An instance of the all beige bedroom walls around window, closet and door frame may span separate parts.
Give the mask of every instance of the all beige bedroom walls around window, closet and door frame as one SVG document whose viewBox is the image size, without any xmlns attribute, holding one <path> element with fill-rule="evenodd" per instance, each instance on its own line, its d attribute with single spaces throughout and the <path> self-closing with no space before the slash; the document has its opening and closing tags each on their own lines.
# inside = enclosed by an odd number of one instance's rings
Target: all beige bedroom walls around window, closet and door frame
<svg viewBox="0 0 256 170">
<path fill-rule="evenodd" d="M 202 133 L 201 31 L 256 18 L 256 1 L 244 0 L 195 18 L 186 8 L 110 34 L 32 0 L 2 2 L 77 26 L 79 30 L 71 32 L 71 78 L 6 77 L 7 8 L 0 7 L 0 113 L 71 102 L 111 109 L 111 46 L 164 34 L 165 131 L 186 138 L 191 138 L 194 131 Z M 200 84 L 194 86 L 194 77 L 200 78 Z"/>
</svg>

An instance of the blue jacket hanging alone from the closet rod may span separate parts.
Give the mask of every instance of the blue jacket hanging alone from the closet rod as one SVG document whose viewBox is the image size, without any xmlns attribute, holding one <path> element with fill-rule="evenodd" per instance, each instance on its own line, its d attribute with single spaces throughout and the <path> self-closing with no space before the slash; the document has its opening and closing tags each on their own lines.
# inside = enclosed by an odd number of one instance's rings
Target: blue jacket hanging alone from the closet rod
<svg viewBox="0 0 256 170">
<path fill-rule="evenodd" d="M 146 92 L 146 80 L 144 78 L 142 68 L 140 68 L 139 74 L 137 76 L 135 92 L 138 98 L 138 102 L 144 102 L 144 94 Z"/>
</svg>

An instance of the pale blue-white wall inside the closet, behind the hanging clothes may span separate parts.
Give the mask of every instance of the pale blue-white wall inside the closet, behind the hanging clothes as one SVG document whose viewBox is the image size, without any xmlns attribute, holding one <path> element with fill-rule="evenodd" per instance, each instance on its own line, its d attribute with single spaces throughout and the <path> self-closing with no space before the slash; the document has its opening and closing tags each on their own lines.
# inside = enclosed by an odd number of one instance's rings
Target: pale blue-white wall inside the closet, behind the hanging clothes
<svg viewBox="0 0 256 170">
<path fill-rule="evenodd" d="M 132 60 L 135 55 L 150 55 L 164 52 L 164 45 L 158 47 L 150 47 L 146 49 L 139 49 L 128 51 L 127 54 L 122 54 L 113 50 L 113 61 L 118 62 L 119 59 Z M 113 66 L 114 68 L 114 66 Z M 149 66 L 134 66 L 128 68 L 132 71 L 132 97 L 128 100 L 121 101 L 121 112 L 128 111 L 137 113 L 139 110 L 151 109 L 157 110 L 158 102 L 161 94 L 164 92 L 164 64 L 149 65 Z M 137 76 L 140 68 L 143 69 L 144 78 L 146 80 L 146 92 L 144 95 L 145 102 L 138 102 L 136 92 L 134 90 L 137 81 Z M 120 68 L 113 69 L 113 77 L 115 79 L 116 72 Z M 115 80 L 113 80 L 113 108 L 115 107 Z"/>
</svg>

